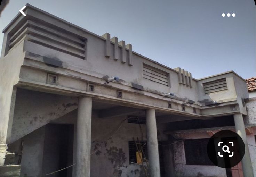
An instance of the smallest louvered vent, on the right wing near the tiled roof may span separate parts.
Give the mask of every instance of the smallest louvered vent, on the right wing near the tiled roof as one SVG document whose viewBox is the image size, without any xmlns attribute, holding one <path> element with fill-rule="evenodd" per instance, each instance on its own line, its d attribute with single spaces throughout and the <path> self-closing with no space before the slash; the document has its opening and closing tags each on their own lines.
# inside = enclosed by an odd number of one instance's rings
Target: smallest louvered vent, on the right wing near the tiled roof
<svg viewBox="0 0 256 177">
<path fill-rule="evenodd" d="M 226 78 L 203 83 L 203 89 L 205 90 L 205 94 L 226 90 L 227 89 Z"/>
</svg>

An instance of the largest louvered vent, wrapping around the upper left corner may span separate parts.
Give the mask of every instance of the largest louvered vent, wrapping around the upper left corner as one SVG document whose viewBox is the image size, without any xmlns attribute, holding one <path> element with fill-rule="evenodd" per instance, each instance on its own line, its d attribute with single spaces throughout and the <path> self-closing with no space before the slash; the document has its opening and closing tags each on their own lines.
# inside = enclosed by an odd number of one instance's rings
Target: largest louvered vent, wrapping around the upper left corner
<svg viewBox="0 0 256 177">
<path fill-rule="evenodd" d="M 10 33 L 8 50 L 15 48 L 21 40 L 28 40 L 85 59 L 86 38 L 51 24 L 27 20 L 17 31 Z"/>
</svg>

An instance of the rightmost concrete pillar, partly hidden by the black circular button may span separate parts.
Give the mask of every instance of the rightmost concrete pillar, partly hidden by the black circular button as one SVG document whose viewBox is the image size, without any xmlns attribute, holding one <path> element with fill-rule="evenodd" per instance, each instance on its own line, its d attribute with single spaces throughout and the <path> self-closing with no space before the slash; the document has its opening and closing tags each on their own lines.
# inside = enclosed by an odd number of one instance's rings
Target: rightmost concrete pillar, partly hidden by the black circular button
<svg viewBox="0 0 256 177">
<path fill-rule="evenodd" d="M 235 131 L 241 138 L 243 139 L 243 142 L 245 143 L 245 155 L 242 159 L 242 167 L 243 167 L 243 176 L 245 177 L 253 177 L 253 167 L 251 164 L 251 158 L 246 138 L 246 132 L 245 132 L 245 124 L 243 122 L 243 115 L 235 114 L 234 115 L 234 121 L 235 121 Z"/>
</svg>

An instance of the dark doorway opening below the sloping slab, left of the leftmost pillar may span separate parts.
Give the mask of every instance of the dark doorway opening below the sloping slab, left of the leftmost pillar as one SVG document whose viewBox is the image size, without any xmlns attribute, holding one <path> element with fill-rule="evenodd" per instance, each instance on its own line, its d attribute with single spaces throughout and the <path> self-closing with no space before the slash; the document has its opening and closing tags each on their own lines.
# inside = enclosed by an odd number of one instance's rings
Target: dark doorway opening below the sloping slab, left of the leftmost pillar
<svg viewBox="0 0 256 177">
<path fill-rule="evenodd" d="M 73 164 L 74 124 L 47 124 L 43 150 L 42 174 Z M 56 172 L 55 177 L 72 177 L 72 167 Z"/>
</svg>

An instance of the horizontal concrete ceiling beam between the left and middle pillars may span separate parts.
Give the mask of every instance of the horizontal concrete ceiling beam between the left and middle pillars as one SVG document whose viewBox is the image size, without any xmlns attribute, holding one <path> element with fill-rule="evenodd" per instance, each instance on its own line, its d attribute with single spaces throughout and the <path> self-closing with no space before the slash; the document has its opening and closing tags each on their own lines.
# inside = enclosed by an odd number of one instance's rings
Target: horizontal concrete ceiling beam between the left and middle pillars
<svg viewBox="0 0 256 177">
<path fill-rule="evenodd" d="M 99 111 L 99 118 L 111 118 L 111 117 L 118 117 L 124 116 L 129 114 L 134 114 L 138 112 L 144 112 L 143 109 L 136 109 L 124 106 L 117 106 L 114 108 L 103 109 Z"/>
</svg>

